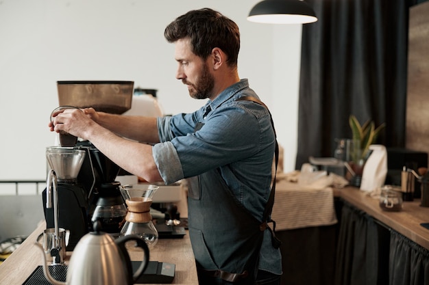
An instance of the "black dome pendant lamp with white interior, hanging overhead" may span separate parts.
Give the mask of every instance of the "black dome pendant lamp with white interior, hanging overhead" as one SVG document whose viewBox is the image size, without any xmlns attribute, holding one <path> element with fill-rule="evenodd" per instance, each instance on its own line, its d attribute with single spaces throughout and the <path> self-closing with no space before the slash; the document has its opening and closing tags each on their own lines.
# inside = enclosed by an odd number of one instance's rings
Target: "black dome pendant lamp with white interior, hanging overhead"
<svg viewBox="0 0 429 285">
<path fill-rule="evenodd" d="M 306 24 L 317 21 L 315 11 L 301 0 L 264 0 L 250 10 L 247 20 L 267 24 Z"/>
</svg>

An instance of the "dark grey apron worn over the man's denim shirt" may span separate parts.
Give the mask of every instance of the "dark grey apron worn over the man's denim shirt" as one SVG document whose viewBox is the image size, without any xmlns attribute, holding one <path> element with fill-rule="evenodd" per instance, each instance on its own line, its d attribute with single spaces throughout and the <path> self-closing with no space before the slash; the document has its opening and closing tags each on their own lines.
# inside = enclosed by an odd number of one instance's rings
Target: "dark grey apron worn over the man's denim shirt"
<svg viewBox="0 0 429 285">
<path fill-rule="evenodd" d="M 254 284 L 264 236 L 260 224 L 217 169 L 188 178 L 188 227 L 199 284 Z"/>
</svg>

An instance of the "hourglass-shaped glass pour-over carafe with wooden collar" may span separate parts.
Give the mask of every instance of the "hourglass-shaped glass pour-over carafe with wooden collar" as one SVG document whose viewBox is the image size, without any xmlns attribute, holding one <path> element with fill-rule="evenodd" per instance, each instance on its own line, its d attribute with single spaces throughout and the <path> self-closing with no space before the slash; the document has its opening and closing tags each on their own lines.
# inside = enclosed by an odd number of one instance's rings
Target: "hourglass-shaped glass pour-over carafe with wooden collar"
<svg viewBox="0 0 429 285">
<path fill-rule="evenodd" d="M 121 185 L 121 194 L 128 206 L 121 236 L 137 234 L 152 248 L 158 242 L 158 231 L 150 213 L 152 197 L 159 187 L 149 184 Z"/>
</svg>

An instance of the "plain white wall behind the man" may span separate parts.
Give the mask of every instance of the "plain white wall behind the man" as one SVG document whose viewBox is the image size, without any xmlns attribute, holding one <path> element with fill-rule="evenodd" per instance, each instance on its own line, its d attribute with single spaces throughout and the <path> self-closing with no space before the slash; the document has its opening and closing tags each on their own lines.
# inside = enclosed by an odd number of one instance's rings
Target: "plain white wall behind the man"
<svg viewBox="0 0 429 285">
<path fill-rule="evenodd" d="M 164 112 L 190 112 L 204 102 L 175 79 L 167 24 L 210 7 L 241 30 L 238 71 L 270 107 L 284 169 L 295 167 L 301 25 L 246 21 L 254 1 L 0 1 L 0 180 L 45 179 L 47 124 L 58 107 L 56 81 L 131 80 L 158 89 Z M 6 191 L 1 189 L 0 192 Z"/>
</svg>

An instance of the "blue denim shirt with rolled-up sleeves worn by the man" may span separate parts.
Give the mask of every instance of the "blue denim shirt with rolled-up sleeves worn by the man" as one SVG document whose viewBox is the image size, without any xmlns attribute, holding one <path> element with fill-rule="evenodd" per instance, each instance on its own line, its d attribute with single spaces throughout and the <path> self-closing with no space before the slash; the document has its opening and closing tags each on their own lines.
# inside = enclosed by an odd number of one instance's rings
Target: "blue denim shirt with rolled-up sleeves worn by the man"
<svg viewBox="0 0 429 285">
<path fill-rule="evenodd" d="M 262 220 L 269 198 L 275 135 L 269 111 L 253 102 L 236 101 L 243 96 L 258 98 L 247 79 L 223 90 L 194 113 L 158 118 L 161 143 L 154 145 L 153 156 L 166 185 L 219 169 L 237 200 Z M 195 131 L 197 124 L 199 131 Z M 259 269 L 282 273 L 280 249 L 272 247 L 268 230 Z"/>
</svg>

